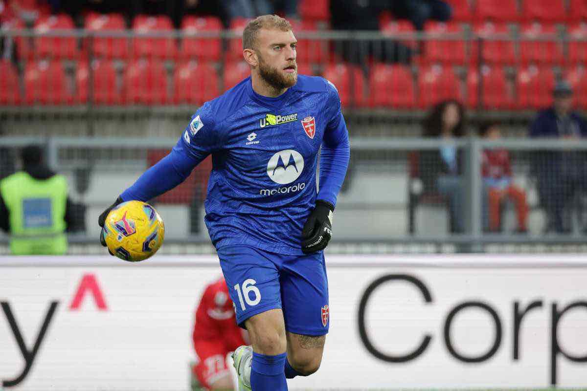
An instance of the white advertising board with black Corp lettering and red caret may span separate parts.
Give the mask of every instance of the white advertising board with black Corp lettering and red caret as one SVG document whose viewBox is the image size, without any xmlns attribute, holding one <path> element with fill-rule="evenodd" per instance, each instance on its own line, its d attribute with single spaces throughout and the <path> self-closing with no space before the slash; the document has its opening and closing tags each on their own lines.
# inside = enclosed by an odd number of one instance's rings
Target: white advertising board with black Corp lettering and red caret
<svg viewBox="0 0 587 391">
<path fill-rule="evenodd" d="M 585 256 L 329 256 L 322 366 L 290 389 L 587 386 Z M 211 256 L 0 257 L 5 390 L 186 390 Z"/>
</svg>

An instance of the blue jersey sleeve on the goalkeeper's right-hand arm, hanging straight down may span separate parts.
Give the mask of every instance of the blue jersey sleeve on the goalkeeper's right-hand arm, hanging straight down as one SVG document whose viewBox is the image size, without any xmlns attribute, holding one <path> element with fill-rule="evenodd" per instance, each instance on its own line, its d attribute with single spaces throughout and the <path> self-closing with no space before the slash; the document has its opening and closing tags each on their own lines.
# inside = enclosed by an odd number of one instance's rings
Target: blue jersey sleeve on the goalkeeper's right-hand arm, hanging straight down
<svg viewBox="0 0 587 391">
<path fill-rule="evenodd" d="M 327 80 L 328 81 L 328 80 Z M 345 180 L 349 165 L 350 143 L 345 118 L 340 110 L 340 97 L 334 84 L 328 81 L 326 129 L 320 152 L 320 182 L 316 199 L 336 206 L 336 197 Z"/>
</svg>

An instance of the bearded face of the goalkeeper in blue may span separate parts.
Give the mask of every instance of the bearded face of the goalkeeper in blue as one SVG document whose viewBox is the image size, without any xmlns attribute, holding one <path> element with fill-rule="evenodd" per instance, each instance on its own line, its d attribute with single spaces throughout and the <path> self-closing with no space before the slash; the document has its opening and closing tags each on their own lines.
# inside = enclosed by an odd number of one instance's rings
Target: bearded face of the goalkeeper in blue
<svg viewBox="0 0 587 391">
<path fill-rule="evenodd" d="M 257 35 L 259 74 L 269 86 L 282 90 L 298 80 L 294 33 L 261 29 Z"/>
</svg>

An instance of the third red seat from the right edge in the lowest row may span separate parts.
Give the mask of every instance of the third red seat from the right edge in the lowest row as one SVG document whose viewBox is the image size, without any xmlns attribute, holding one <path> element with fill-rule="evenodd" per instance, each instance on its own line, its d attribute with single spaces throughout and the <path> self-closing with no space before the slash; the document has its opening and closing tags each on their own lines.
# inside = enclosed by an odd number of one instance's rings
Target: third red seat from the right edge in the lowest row
<svg viewBox="0 0 587 391">
<path fill-rule="evenodd" d="M 514 98 L 511 90 L 508 90 L 507 79 L 504 70 L 500 66 L 481 68 L 481 77 L 477 69 L 470 70 L 467 75 L 467 104 L 471 108 L 477 108 L 479 101 L 480 83 L 481 103 L 484 108 L 512 108 Z"/>
</svg>

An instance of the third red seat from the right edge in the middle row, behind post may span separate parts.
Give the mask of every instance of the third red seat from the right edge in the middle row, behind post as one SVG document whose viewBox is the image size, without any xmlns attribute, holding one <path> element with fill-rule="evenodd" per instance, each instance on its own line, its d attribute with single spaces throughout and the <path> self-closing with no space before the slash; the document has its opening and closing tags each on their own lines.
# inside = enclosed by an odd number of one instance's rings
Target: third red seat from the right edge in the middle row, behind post
<svg viewBox="0 0 587 391">
<path fill-rule="evenodd" d="M 506 23 L 482 22 L 474 28 L 475 34 L 483 38 L 483 61 L 512 64 L 515 62 L 514 41 Z M 478 42 L 473 43 L 471 56 L 478 59 Z"/>
</svg>

